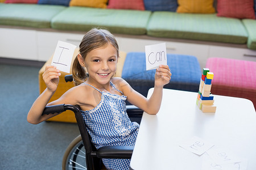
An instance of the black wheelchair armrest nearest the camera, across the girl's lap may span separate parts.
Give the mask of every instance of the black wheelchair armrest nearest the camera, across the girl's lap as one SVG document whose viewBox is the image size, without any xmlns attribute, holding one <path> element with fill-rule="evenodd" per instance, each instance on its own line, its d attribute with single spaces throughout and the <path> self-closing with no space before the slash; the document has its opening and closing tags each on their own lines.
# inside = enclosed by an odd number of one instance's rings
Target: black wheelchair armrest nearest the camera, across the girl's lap
<svg viewBox="0 0 256 170">
<path fill-rule="evenodd" d="M 98 158 L 131 159 L 134 146 L 105 146 L 97 150 Z"/>
</svg>

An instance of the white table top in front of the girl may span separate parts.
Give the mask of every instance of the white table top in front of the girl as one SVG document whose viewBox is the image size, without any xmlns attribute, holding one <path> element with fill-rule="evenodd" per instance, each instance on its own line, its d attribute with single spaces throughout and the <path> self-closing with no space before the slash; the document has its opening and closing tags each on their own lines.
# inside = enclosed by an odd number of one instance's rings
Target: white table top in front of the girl
<svg viewBox="0 0 256 170">
<path fill-rule="evenodd" d="M 148 91 L 151 96 L 153 89 Z M 247 99 L 214 95 L 216 113 L 203 113 L 197 93 L 163 91 L 160 111 L 143 114 L 130 168 L 200 170 L 207 153 L 199 156 L 179 145 L 193 136 L 248 160 L 256 169 L 256 113 Z"/>
</svg>

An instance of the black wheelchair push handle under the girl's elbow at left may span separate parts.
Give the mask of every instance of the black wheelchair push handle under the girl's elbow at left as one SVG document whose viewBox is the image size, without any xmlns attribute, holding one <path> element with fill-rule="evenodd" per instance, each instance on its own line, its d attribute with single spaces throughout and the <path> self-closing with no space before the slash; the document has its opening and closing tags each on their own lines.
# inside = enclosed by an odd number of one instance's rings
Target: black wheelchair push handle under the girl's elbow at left
<svg viewBox="0 0 256 170">
<path fill-rule="evenodd" d="M 53 114 L 53 113 L 60 113 L 65 111 L 72 111 L 74 113 L 80 112 L 80 109 L 78 106 L 74 106 L 71 104 L 58 104 L 58 105 L 49 105 L 46 108 L 44 108 L 43 114 Z"/>
</svg>

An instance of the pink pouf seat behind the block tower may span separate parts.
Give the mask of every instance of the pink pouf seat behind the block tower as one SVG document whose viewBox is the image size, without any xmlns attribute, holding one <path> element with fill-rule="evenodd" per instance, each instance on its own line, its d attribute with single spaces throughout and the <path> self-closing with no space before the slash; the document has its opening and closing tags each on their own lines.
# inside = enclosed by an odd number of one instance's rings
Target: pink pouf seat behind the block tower
<svg viewBox="0 0 256 170">
<path fill-rule="evenodd" d="M 212 94 L 249 99 L 256 108 L 256 62 L 208 58 L 206 67 L 214 73 Z"/>
</svg>

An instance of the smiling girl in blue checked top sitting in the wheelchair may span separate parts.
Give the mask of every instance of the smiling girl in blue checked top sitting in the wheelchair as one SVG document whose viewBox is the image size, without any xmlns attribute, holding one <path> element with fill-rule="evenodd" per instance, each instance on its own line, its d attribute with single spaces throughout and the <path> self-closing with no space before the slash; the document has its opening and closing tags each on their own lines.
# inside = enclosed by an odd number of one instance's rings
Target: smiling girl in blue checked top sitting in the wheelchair
<svg viewBox="0 0 256 170">
<path fill-rule="evenodd" d="M 148 114 L 158 113 L 163 86 L 170 82 L 171 73 L 167 65 L 156 69 L 154 92 L 147 99 L 134 91 L 122 78 L 113 77 L 117 70 L 118 57 L 119 49 L 114 36 L 105 29 L 91 29 L 83 37 L 80 53 L 72 67 L 73 80 L 77 86 L 48 103 L 59 83 L 60 70 L 55 66 L 46 66 L 43 79 L 47 88 L 35 100 L 28 112 L 27 121 L 39 124 L 58 114 L 42 116 L 46 105 L 77 104 L 96 148 L 110 145 L 134 146 L 139 125 L 129 120 L 125 100 Z M 102 161 L 107 169 L 129 169 L 129 159 Z"/>
</svg>

